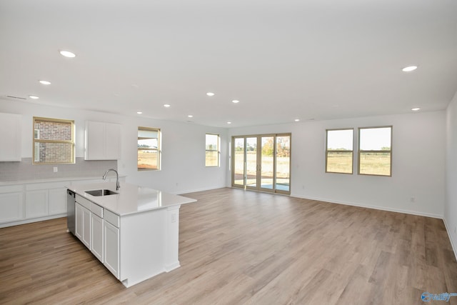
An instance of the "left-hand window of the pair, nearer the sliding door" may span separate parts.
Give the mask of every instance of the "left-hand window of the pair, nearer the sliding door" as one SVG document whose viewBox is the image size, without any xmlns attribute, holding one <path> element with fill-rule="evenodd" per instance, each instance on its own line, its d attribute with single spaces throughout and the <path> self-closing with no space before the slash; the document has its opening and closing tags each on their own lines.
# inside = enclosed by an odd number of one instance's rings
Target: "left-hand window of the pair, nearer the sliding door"
<svg viewBox="0 0 457 305">
<path fill-rule="evenodd" d="M 326 173 L 352 174 L 353 129 L 326 131 Z"/>
</svg>

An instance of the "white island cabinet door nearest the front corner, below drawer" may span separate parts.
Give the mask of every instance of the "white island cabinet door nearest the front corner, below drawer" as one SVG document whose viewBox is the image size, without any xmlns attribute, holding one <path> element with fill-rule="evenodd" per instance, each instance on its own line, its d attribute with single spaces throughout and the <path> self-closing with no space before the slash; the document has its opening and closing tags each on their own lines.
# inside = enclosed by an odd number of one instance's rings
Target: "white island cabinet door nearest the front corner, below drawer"
<svg viewBox="0 0 457 305">
<path fill-rule="evenodd" d="M 104 221 L 104 265 L 119 279 L 119 229 Z"/>
</svg>

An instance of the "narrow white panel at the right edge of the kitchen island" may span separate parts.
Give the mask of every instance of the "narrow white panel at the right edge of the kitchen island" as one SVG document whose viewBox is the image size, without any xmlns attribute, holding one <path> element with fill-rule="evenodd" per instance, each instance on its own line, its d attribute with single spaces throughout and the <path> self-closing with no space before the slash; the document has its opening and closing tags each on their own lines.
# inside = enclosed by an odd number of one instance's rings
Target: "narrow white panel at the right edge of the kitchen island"
<svg viewBox="0 0 457 305">
<path fill-rule="evenodd" d="M 166 246 L 164 248 L 165 271 L 169 272 L 179 264 L 179 208 L 171 206 L 166 209 Z"/>
</svg>

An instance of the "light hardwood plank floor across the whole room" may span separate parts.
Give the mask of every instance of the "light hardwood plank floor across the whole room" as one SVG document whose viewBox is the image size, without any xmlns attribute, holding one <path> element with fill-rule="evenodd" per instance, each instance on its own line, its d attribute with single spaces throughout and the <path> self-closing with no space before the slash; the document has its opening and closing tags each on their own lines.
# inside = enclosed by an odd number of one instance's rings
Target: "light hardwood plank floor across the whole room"
<svg viewBox="0 0 457 305">
<path fill-rule="evenodd" d="M 424 291 L 457 292 L 440 219 L 241 189 L 186 196 L 198 201 L 181 206 L 181 267 L 129 289 L 65 218 L 0 229 L 0 304 L 426 304 Z"/>
</svg>

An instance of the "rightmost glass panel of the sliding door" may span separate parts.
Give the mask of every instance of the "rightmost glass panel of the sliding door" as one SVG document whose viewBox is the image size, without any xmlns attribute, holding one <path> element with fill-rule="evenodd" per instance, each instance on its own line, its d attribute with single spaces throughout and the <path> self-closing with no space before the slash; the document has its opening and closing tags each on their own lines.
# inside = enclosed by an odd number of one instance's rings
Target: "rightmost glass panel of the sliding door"
<svg viewBox="0 0 457 305">
<path fill-rule="evenodd" d="M 276 190 L 291 191 L 291 136 L 276 136 Z"/>
</svg>

